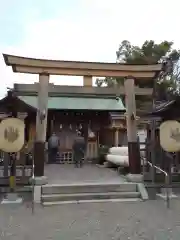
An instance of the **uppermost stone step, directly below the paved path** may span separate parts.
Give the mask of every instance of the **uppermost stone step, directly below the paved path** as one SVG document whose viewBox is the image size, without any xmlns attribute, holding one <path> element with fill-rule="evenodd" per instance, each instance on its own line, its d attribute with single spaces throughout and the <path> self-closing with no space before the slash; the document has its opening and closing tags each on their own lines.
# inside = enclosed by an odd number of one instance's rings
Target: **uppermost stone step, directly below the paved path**
<svg viewBox="0 0 180 240">
<path fill-rule="evenodd" d="M 68 193 L 136 192 L 136 183 L 85 183 L 85 184 L 47 184 L 42 186 L 42 195 Z"/>
</svg>

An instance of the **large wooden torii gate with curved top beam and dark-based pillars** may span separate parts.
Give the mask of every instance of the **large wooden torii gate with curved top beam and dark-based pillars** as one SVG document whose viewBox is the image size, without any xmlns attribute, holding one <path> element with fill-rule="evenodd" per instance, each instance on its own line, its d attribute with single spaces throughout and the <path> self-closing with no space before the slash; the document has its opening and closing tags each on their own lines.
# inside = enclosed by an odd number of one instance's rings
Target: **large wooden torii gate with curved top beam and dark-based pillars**
<svg viewBox="0 0 180 240">
<path fill-rule="evenodd" d="M 44 148 L 47 127 L 48 86 L 50 75 L 83 76 L 84 86 L 92 87 L 92 77 L 124 77 L 127 139 L 131 174 L 140 173 L 140 153 L 137 142 L 135 95 L 151 95 L 152 89 L 135 88 L 134 81 L 155 79 L 163 64 L 129 65 L 100 62 L 57 61 L 3 54 L 7 66 L 14 72 L 39 74 L 36 142 L 34 145 L 35 176 L 44 175 Z M 122 93 L 119 89 L 119 93 Z M 117 89 L 118 93 L 118 89 Z"/>
</svg>

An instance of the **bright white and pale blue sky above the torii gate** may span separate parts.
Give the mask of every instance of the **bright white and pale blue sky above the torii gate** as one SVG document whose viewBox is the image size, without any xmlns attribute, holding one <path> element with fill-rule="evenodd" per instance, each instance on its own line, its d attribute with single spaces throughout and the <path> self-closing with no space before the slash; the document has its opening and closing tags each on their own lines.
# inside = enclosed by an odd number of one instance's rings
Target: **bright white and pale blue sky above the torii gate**
<svg viewBox="0 0 180 240">
<path fill-rule="evenodd" d="M 115 62 L 123 40 L 173 41 L 180 49 L 179 0 L 0 1 L 0 98 L 13 83 L 38 76 L 13 73 L 2 53 L 25 57 Z M 82 85 L 82 77 L 51 76 L 60 85 Z"/>
</svg>

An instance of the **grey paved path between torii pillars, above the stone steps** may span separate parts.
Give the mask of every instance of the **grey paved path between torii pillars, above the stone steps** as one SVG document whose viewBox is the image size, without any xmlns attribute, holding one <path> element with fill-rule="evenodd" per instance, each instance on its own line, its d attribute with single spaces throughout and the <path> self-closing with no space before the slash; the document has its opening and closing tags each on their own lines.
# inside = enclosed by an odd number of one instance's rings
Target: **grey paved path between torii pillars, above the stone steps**
<svg viewBox="0 0 180 240">
<path fill-rule="evenodd" d="M 68 183 L 119 183 L 124 179 L 116 171 L 96 165 L 84 165 L 82 168 L 75 168 L 74 165 L 46 165 L 45 175 L 48 183 L 68 184 Z"/>
</svg>

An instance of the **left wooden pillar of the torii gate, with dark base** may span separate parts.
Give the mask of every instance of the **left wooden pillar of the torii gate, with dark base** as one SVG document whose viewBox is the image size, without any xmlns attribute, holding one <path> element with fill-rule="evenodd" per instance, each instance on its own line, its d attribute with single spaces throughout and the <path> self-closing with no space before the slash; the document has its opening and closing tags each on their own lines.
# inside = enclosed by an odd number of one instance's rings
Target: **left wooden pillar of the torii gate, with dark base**
<svg viewBox="0 0 180 240">
<path fill-rule="evenodd" d="M 48 87 L 49 75 L 39 75 L 37 115 L 36 115 L 36 140 L 34 144 L 34 175 L 44 176 L 45 142 L 48 113 Z"/>
</svg>

